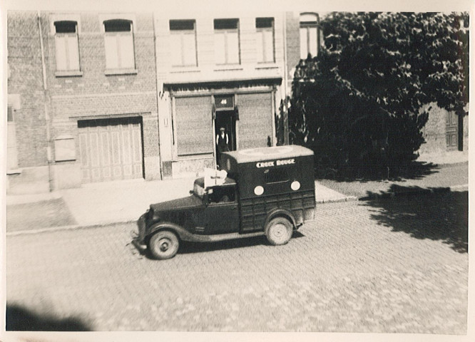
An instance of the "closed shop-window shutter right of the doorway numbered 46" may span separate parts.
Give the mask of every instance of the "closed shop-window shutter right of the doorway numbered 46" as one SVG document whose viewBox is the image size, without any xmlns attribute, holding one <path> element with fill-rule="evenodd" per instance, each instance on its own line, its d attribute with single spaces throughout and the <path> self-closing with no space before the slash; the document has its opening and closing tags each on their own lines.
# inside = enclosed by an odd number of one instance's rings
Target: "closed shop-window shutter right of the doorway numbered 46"
<svg viewBox="0 0 475 342">
<path fill-rule="evenodd" d="M 272 141 L 272 93 L 237 94 L 239 149 L 267 146 Z"/>
</svg>

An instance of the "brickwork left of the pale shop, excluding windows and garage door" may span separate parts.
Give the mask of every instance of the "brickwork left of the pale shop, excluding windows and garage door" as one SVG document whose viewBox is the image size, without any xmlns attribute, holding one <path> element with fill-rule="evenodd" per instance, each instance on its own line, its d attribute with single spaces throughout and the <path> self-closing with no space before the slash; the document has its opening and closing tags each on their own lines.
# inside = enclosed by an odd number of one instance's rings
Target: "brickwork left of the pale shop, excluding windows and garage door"
<svg viewBox="0 0 475 342">
<path fill-rule="evenodd" d="M 51 155 L 59 135 L 76 138 L 76 163 L 56 163 L 58 170 L 79 167 L 78 119 L 96 115 L 143 115 L 144 167 L 147 179 L 160 177 L 155 78 L 153 14 L 41 12 L 41 28 L 46 64 L 46 96 L 43 90 L 41 48 L 37 14 L 10 11 L 8 14 L 9 94 L 20 94 L 21 109 L 16 113 L 19 167 L 47 165 L 45 103 L 51 118 Z M 106 74 L 106 51 L 102 22 L 106 19 L 133 21 L 135 72 Z M 78 51 L 81 73 L 56 75 L 54 21 L 78 22 Z M 76 166 L 75 166 L 76 165 Z M 66 170 L 65 169 L 65 170 Z M 57 183 L 57 182 L 56 182 Z"/>
</svg>

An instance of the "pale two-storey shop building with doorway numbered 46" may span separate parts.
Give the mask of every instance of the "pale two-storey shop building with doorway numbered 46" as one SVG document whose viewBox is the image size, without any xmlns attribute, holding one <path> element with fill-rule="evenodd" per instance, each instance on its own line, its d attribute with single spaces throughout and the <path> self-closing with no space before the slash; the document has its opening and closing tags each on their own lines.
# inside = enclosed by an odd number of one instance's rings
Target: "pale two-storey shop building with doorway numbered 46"
<svg viewBox="0 0 475 342">
<path fill-rule="evenodd" d="M 273 12 L 155 18 L 164 177 L 215 167 L 221 127 L 230 150 L 275 145 L 284 22 Z"/>
</svg>

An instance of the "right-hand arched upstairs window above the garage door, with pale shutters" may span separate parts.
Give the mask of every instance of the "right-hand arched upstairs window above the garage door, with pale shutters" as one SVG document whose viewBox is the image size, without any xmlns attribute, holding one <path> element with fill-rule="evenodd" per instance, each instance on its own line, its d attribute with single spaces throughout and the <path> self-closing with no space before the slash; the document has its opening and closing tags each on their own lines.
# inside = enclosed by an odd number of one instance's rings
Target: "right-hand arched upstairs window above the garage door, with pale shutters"
<svg viewBox="0 0 475 342">
<path fill-rule="evenodd" d="M 112 19 L 104 21 L 103 24 L 105 31 L 106 68 L 135 68 L 132 21 Z"/>
</svg>

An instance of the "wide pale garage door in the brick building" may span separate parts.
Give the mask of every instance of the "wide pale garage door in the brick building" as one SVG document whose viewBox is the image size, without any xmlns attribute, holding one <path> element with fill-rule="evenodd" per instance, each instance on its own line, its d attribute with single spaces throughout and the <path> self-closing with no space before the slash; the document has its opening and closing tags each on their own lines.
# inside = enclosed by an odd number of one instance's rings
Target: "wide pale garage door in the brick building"
<svg viewBox="0 0 475 342">
<path fill-rule="evenodd" d="M 142 118 L 78 121 L 83 182 L 143 177 Z"/>
</svg>

